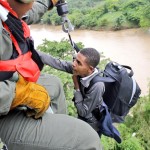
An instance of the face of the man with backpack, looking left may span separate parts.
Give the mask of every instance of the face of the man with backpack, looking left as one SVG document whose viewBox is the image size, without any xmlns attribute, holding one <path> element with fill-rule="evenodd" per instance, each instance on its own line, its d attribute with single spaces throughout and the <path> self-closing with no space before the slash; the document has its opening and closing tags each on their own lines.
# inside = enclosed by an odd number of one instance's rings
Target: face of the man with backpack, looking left
<svg viewBox="0 0 150 150">
<path fill-rule="evenodd" d="M 93 72 L 93 67 L 87 64 L 86 57 L 80 52 L 77 54 L 72 67 L 73 74 L 81 77 L 86 77 Z"/>
</svg>

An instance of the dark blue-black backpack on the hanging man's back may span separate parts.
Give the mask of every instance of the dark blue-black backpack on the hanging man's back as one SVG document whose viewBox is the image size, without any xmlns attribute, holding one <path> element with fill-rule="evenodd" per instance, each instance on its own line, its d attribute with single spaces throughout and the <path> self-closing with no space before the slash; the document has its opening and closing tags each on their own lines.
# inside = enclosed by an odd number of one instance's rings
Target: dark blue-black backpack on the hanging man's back
<svg viewBox="0 0 150 150">
<path fill-rule="evenodd" d="M 95 76 L 88 89 L 96 82 L 104 82 L 103 100 L 108 106 L 113 122 L 121 123 L 141 94 L 141 89 L 133 78 L 130 66 L 109 62 L 102 75 Z"/>
</svg>

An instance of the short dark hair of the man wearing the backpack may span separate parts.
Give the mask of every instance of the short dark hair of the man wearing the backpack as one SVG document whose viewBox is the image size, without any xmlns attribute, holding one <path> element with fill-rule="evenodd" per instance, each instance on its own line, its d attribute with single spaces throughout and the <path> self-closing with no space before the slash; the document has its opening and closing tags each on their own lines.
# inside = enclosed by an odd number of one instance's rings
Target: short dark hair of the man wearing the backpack
<svg viewBox="0 0 150 150">
<path fill-rule="evenodd" d="M 96 67 L 100 62 L 100 53 L 94 48 L 84 48 L 80 53 L 86 57 L 86 62 L 92 67 Z"/>
</svg>

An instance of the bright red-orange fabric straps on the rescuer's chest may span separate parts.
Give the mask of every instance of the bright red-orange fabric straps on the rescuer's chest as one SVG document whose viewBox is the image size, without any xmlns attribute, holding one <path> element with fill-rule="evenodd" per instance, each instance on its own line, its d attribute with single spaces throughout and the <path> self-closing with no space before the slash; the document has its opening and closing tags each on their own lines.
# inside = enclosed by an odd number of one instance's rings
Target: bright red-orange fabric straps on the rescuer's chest
<svg viewBox="0 0 150 150">
<path fill-rule="evenodd" d="M 0 0 L 0 4 L 2 4 L 10 13 L 12 13 L 15 17 L 18 18 L 17 14 L 10 8 L 9 4 L 5 0 Z M 30 37 L 30 30 L 28 25 L 22 21 L 24 37 Z M 4 23 L 4 27 L 7 31 L 9 31 L 8 26 Z M 17 71 L 21 74 L 27 81 L 36 82 L 39 75 L 40 70 L 38 65 L 32 60 L 32 53 L 28 51 L 26 54 L 22 55 L 22 51 L 18 45 L 17 40 L 10 32 L 10 37 L 12 42 L 19 53 L 19 56 L 16 59 L 11 60 L 0 60 L 0 71 Z"/>
</svg>

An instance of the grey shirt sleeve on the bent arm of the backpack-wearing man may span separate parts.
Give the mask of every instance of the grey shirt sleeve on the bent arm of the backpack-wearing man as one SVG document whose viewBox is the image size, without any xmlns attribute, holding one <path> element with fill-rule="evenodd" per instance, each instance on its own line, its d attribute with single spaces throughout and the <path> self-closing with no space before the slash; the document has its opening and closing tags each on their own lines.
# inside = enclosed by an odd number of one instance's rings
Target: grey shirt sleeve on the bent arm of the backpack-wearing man
<svg viewBox="0 0 150 150">
<path fill-rule="evenodd" d="M 90 114 L 97 106 L 102 104 L 104 93 L 104 83 L 95 83 L 89 91 L 84 95 L 77 91 L 74 93 L 74 103 L 77 108 L 78 115 L 86 117 Z"/>
</svg>

